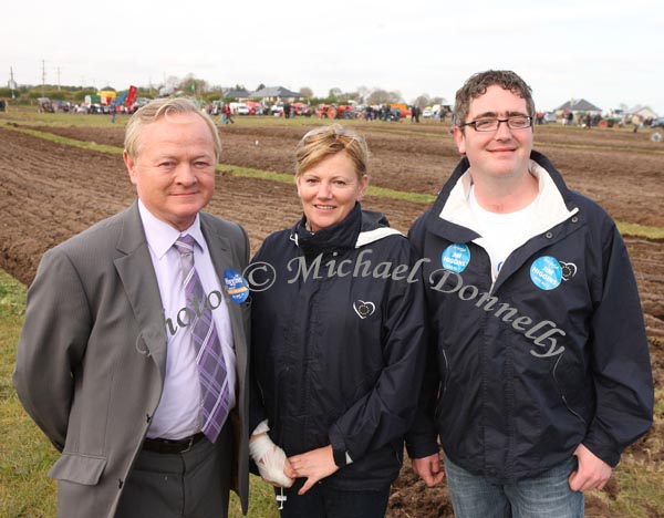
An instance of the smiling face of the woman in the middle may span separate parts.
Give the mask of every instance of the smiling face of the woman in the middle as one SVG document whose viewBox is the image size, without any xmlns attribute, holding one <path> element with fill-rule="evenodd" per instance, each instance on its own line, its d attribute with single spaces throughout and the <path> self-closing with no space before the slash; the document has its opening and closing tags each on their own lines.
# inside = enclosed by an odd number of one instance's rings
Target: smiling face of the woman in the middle
<svg viewBox="0 0 664 518">
<path fill-rule="evenodd" d="M 309 229 L 317 232 L 343 221 L 364 196 L 366 183 L 366 176 L 357 176 L 345 152 L 335 153 L 299 174 L 295 185 Z"/>
</svg>

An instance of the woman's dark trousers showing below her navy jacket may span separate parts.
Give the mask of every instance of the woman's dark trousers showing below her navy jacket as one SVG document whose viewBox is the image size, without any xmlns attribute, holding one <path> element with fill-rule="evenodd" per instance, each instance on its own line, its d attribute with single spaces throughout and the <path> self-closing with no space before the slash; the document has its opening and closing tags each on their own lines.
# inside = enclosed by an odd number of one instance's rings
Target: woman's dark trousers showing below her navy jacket
<svg viewBox="0 0 664 518">
<path fill-rule="evenodd" d="M 375 491 L 345 491 L 326 484 L 317 484 L 304 495 L 298 490 L 304 479 L 295 480 L 293 487 L 284 489 L 287 497 L 281 518 L 383 518 L 390 499 L 390 485 Z M 280 495 L 281 490 L 276 489 Z"/>
</svg>

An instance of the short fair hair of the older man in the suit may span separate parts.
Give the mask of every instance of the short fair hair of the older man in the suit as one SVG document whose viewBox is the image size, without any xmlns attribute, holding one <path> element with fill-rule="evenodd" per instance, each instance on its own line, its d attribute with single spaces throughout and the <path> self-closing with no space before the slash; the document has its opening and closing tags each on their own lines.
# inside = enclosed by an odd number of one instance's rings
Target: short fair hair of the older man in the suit
<svg viewBox="0 0 664 518">
<path fill-rule="evenodd" d="M 134 160 L 137 159 L 141 147 L 141 132 L 146 124 L 154 123 L 160 117 L 187 113 L 197 114 L 207 124 L 215 144 L 215 158 L 219 162 L 219 157 L 221 156 L 221 139 L 217 133 L 217 126 L 215 126 L 214 121 L 207 113 L 201 111 L 194 101 L 186 97 L 156 99 L 138 108 L 132 115 L 125 128 L 125 151 Z"/>
</svg>

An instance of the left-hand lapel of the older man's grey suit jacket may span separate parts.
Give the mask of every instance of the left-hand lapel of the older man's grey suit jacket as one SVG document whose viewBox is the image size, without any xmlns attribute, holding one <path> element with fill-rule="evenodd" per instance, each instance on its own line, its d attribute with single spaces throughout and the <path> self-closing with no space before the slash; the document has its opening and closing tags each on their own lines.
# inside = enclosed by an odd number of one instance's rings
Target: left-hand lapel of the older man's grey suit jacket
<svg viewBox="0 0 664 518">
<path fill-rule="evenodd" d="M 117 249 L 124 253 L 115 259 L 115 269 L 141 328 L 136 348 L 153 358 L 162 379 L 166 372 L 166 328 L 159 284 L 152 263 L 145 231 L 135 203 L 125 213 Z"/>
</svg>

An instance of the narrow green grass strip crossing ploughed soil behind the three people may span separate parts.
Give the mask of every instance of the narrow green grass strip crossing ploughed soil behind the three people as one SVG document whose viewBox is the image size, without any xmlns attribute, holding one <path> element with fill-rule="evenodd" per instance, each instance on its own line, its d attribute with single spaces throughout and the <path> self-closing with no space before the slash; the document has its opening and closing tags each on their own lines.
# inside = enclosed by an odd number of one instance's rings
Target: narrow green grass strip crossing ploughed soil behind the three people
<svg viewBox="0 0 664 518">
<path fill-rule="evenodd" d="M 48 132 L 40 132 L 37 130 L 17 126 L 15 124 L 7 123 L 4 121 L 0 121 L 0 126 L 4 127 L 6 130 L 25 133 L 37 138 L 43 138 L 45 141 L 51 141 L 68 146 L 96 151 L 100 153 L 108 153 L 112 155 L 122 155 L 122 149 L 115 146 L 106 146 L 104 144 L 96 144 L 94 142 L 77 141 L 75 138 L 63 137 Z M 217 170 L 230 174 L 232 176 L 258 178 L 268 182 L 278 182 L 280 184 L 293 183 L 293 175 L 286 173 L 271 173 L 268 170 L 251 169 L 248 167 L 240 167 L 227 164 L 218 165 Z M 376 196 L 378 198 L 398 199 L 402 201 L 412 201 L 415 204 L 432 204 L 436 199 L 436 197 L 433 195 L 422 193 L 408 193 L 405 190 L 395 190 L 386 187 L 375 187 L 371 185 L 369 186 L 367 194 L 370 196 Z M 639 225 L 627 221 L 615 222 L 618 225 L 619 230 L 624 236 L 643 237 L 646 239 L 664 239 L 664 227 L 651 227 L 647 225 Z"/>
</svg>

